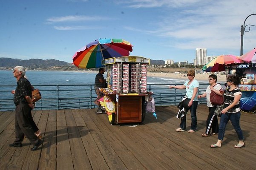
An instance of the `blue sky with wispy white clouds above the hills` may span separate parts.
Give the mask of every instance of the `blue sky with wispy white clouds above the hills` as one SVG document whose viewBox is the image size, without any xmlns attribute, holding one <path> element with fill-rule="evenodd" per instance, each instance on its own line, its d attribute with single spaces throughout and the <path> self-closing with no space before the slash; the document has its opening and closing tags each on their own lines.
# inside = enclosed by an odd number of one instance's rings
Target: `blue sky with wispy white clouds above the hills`
<svg viewBox="0 0 256 170">
<path fill-rule="evenodd" d="M 100 38 L 129 41 L 130 55 L 193 62 L 240 56 L 241 25 L 256 0 L 0 0 L 0 57 L 72 63 Z M 256 25 L 256 15 L 245 25 Z M 246 27 L 249 30 L 249 26 Z M 256 27 L 244 32 L 244 54 L 256 47 Z"/>
</svg>

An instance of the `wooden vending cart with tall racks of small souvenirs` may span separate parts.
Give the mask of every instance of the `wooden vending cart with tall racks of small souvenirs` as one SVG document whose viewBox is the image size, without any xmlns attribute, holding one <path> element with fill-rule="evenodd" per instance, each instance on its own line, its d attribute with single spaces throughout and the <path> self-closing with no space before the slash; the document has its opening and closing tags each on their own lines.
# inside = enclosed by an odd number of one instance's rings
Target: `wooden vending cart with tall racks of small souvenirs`
<svg viewBox="0 0 256 170">
<path fill-rule="evenodd" d="M 147 95 L 147 65 L 150 59 L 138 56 L 110 58 L 102 61 L 107 69 L 107 88 L 101 105 L 109 123 L 143 122 Z"/>
</svg>

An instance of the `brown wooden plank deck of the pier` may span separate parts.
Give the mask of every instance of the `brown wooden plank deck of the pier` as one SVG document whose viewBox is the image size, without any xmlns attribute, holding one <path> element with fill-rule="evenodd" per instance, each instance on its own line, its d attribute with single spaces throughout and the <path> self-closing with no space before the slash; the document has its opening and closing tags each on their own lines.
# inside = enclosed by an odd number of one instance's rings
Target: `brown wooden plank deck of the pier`
<svg viewBox="0 0 256 170">
<path fill-rule="evenodd" d="M 178 108 L 157 107 L 135 127 L 110 125 L 95 109 L 33 111 L 43 145 L 31 151 L 28 139 L 13 148 L 14 112 L 0 112 L 0 170 L 255 170 L 256 114 L 242 113 L 243 148 L 229 122 L 221 148 L 217 135 L 201 137 L 208 108 L 198 105 L 198 131 L 176 132 Z M 191 123 L 187 115 L 187 130 Z M 136 126 L 137 125 L 137 126 Z"/>
</svg>

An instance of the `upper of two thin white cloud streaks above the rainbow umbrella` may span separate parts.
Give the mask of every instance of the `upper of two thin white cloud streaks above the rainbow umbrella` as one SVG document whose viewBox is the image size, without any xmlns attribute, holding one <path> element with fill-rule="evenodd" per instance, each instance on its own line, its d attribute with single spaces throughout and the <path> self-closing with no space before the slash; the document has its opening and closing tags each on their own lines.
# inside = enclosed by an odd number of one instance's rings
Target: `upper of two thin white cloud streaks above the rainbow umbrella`
<svg viewBox="0 0 256 170">
<path fill-rule="evenodd" d="M 60 22 L 77 22 L 77 21 L 99 21 L 110 20 L 108 17 L 99 16 L 85 16 L 85 15 L 69 15 L 65 17 L 51 17 L 46 19 L 48 23 L 60 23 Z"/>
</svg>

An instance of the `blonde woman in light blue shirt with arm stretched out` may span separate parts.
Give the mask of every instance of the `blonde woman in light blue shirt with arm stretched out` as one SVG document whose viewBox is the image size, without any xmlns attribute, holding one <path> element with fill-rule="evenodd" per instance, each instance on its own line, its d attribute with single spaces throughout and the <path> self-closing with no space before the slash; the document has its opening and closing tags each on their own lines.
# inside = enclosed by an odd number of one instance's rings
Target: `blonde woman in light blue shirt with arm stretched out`
<svg viewBox="0 0 256 170">
<path fill-rule="evenodd" d="M 186 89 L 186 96 L 190 99 L 188 106 L 191 114 L 191 129 L 188 131 L 189 133 L 193 133 L 196 131 L 197 120 L 196 120 L 196 108 L 198 105 L 198 88 L 199 82 L 195 79 L 195 71 L 190 70 L 187 72 L 188 80 L 184 83 L 184 85 L 178 86 L 169 86 L 169 88 L 176 89 Z M 176 129 L 177 132 L 182 132 L 186 130 L 186 115 L 181 117 L 180 127 Z"/>
</svg>

